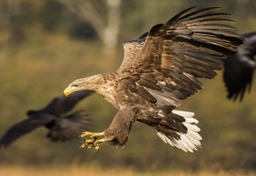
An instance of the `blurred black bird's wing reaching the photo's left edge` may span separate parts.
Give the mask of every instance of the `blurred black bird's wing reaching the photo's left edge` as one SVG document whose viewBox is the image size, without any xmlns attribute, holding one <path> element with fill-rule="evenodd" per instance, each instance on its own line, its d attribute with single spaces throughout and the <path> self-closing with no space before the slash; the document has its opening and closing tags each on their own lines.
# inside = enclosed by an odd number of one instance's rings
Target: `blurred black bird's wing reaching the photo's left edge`
<svg viewBox="0 0 256 176">
<path fill-rule="evenodd" d="M 48 124 L 50 121 L 55 119 L 54 116 L 49 114 L 38 115 L 36 118 L 28 118 L 24 121 L 20 121 L 19 123 L 13 125 L 9 128 L 4 136 L 0 139 L 0 148 L 8 147 L 15 140 L 19 139 L 21 136 L 25 136 L 27 133 L 33 131 L 35 128 L 39 128 Z"/>
</svg>

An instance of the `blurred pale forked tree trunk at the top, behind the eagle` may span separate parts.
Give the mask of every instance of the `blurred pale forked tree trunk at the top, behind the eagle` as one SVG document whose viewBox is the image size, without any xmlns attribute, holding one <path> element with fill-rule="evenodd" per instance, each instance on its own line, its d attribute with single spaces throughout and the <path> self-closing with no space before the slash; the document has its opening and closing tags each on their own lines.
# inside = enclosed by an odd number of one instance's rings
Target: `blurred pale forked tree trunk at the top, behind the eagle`
<svg viewBox="0 0 256 176">
<path fill-rule="evenodd" d="M 88 21 L 96 31 L 106 50 L 113 50 L 117 46 L 120 30 L 120 5 L 121 0 L 106 0 L 107 16 L 96 11 L 96 7 L 90 1 L 84 0 L 58 0 L 72 13 Z M 106 16 L 106 19 L 103 17 Z"/>
</svg>

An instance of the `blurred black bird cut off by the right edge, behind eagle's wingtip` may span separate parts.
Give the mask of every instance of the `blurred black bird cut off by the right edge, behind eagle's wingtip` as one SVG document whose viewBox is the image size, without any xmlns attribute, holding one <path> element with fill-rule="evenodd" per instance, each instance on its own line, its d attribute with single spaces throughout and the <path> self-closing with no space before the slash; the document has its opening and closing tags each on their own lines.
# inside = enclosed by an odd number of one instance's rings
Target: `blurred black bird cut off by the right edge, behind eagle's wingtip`
<svg viewBox="0 0 256 176">
<path fill-rule="evenodd" d="M 245 42 L 239 46 L 236 55 L 229 55 L 224 60 L 223 78 L 228 91 L 228 98 L 243 100 L 246 89 L 251 90 L 253 71 L 256 67 L 256 33 L 245 33 Z"/>
</svg>

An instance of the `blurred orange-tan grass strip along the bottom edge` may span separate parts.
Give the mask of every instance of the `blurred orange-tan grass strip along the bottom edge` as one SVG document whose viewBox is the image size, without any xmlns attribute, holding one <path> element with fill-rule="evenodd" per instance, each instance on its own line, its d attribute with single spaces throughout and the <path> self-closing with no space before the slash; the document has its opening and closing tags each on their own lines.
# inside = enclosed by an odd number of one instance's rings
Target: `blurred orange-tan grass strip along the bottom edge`
<svg viewBox="0 0 256 176">
<path fill-rule="evenodd" d="M 32 167 L 32 166 L 22 166 L 22 165 L 1 165 L 0 166 L 1 175 L 11 175 L 11 176 L 113 176 L 113 175 L 122 175 L 122 176 L 253 176 L 256 175 L 255 172 L 241 172 L 241 171 L 200 171 L 200 172 L 186 172 L 186 171 L 147 171 L 139 172 L 132 170 L 130 168 L 111 168 L 111 169 L 102 169 L 99 166 L 78 166 L 72 165 L 68 167 L 55 166 L 55 167 Z"/>
</svg>

